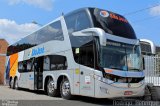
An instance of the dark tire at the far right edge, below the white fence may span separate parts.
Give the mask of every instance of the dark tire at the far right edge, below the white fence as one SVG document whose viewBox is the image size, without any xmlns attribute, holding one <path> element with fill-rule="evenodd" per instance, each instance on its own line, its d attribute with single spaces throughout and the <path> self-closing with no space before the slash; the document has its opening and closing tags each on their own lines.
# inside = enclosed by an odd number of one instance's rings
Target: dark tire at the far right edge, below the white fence
<svg viewBox="0 0 160 106">
<path fill-rule="evenodd" d="M 151 92 L 151 97 L 152 97 L 153 101 L 159 101 L 160 100 L 160 93 L 158 92 L 158 87 L 151 87 L 150 92 Z"/>
</svg>

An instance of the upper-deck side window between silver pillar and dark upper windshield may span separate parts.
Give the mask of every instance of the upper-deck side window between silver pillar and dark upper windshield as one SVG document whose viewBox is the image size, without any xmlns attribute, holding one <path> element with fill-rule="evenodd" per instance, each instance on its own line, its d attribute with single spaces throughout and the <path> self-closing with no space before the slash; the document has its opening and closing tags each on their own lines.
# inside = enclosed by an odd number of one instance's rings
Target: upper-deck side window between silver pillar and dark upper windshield
<svg viewBox="0 0 160 106">
<path fill-rule="evenodd" d="M 65 16 L 68 32 L 80 31 L 91 27 L 91 23 L 86 11 L 76 12 Z"/>
</svg>

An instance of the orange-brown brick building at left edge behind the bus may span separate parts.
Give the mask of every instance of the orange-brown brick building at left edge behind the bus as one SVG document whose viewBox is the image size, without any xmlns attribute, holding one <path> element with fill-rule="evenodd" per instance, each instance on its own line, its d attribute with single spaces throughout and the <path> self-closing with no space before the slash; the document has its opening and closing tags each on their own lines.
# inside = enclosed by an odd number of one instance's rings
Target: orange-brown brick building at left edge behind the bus
<svg viewBox="0 0 160 106">
<path fill-rule="evenodd" d="M 7 47 L 7 41 L 5 39 L 0 39 L 0 84 L 4 84 Z"/>
</svg>

